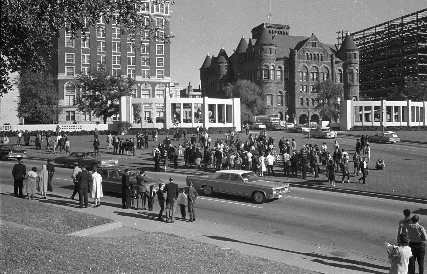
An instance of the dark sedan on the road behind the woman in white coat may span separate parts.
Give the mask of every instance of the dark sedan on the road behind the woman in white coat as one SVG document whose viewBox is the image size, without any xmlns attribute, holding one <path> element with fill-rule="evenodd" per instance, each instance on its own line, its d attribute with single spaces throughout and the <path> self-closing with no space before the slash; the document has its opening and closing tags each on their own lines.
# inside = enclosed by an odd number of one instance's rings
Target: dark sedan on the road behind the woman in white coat
<svg viewBox="0 0 427 274">
<path fill-rule="evenodd" d="M 77 162 L 79 165 L 85 164 L 88 168 L 117 166 L 119 160 L 105 159 L 97 151 L 75 151 L 71 152 L 68 156 L 56 157 L 56 164 L 63 164 L 66 168 L 73 166 Z"/>
</svg>

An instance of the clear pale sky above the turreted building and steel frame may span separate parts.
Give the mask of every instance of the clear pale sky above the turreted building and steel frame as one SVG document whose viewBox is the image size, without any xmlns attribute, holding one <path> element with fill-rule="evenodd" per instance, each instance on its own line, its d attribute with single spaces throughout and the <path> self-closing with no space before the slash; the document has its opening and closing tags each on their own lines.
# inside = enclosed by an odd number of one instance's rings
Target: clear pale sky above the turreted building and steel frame
<svg viewBox="0 0 427 274">
<path fill-rule="evenodd" d="M 359 31 L 425 9 L 425 0 L 175 0 L 171 6 L 171 82 L 185 88 L 200 84 L 206 54 L 228 56 L 242 37 L 261 23 L 290 26 L 290 35 L 337 43 L 336 31 Z"/>
</svg>

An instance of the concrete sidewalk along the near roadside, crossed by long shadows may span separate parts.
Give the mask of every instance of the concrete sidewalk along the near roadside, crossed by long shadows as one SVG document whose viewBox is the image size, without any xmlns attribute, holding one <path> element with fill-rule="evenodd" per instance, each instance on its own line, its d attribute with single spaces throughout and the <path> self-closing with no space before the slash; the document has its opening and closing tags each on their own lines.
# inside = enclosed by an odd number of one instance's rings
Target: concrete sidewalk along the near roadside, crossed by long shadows
<svg viewBox="0 0 427 274">
<path fill-rule="evenodd" d="M 0 188 L 1 193 L 13 193 L 13 186 L 0 184 Z M 54 194 L 55 197 L 49 197 L 48 193 L 44 202 L 49 204 L 49 201 L 69 201 L 67 205 L 52 203 L 52 206 L 93 214 L 121 223 L 121 227 L 110 230 L 99 226 L 99 231 L 92 231 L 89 237 L 124 237 L 140 233 L 164 232 L 325 274 L 381 274 L 388 273 L 390 266 L 385 251 L 383 258 L 367 257 L 351 251 L 293 240 L 282 233 L 266 234 L 263 231 L 235 228 L 203 220 L 203 217 L 197 216 L 197 203 L 195 222 L 186 223 L 185 220 L 175 219 L 175 223 L 164 223 L 157 220 L 158 206 L 155 206 L 155 211 L 123 209 L 121 201 L 117 198 L 103 197 L 99 208 L 91 208 L 90 205 L 87 209 L 80 209 L 76 207 L 76 201 L 68 199 L 69 194 L 58 192 Z"/>
</svg>

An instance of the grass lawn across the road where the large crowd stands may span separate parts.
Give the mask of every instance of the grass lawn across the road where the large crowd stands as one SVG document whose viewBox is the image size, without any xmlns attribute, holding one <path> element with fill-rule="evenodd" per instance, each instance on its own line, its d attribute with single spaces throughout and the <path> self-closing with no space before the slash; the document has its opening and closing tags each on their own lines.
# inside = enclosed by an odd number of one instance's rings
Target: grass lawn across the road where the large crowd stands
<svg viewBox="0 0 427 274">
<path fill-rule="evenodd" d="M 259 131 L 256 132 L 259 134 Z M 375 132 L 372 131 L 347 131 L 348 134 L 368 134 L 373 135 Z M 425 139 L 426 131 L 399 131 L 398 136 L 400 136 L 402 139 L 411 139 L 411 140 L 422 140 Z M 254 134 L 253 134 L 254 135 Z M 235 136 L 240 137 L 243 141 L 247 140 L 247 136 L 244 133 L 238 133 L 235 134 Z M 308 143 L 307 141 L 307 135 L 304 134 L 293 134 L 288 132 L 281 132 L 281 131 L 268 131 L 267 137 L 272 136 L 275 138 L 276 143 L 278 142 L 280 137 L 286 137 L 287 139 L 295 138 L 297 142 L 297 146 L 301 146 L 301 144 Z M 120 136 L 122 138 L 130 138 L 134 136 Z M 170 136 L 171 137 L 171 136 Z M 187 139 L 191 136 L 187 136 Z M 33 139 L 34 137 L 32 137 Z M 163 141 L 165 138 L 165 135 L 159 135 L 158 141 Z M 225 135 L 223 134 L 212 134 L 211 139 L 213 142 L 215 142 L 216 138 L 225 139 Z M 70 136 L 70 151 L 92 151 L 92 143 L 93 143 L 93 136 Z M 151 159 L 151 151 L 152 146 L 158 145 L 158 141 L 154 142 L 150 138 L 149 140 L 149 148 L 148 150 L 137 150 L 137 156 L 130 156 L 130 155 L 117 155 L 112 153 L 112 149 L 107 149 L 106 143 L 105 143 L 106 136 L 100 136 L 99 140 L 101 140 L 101 147 L 99 151 L 104 154 L 106 157 L 115 158 L 119 160 L 119 163 L 121 165 L 129 165 L 129 166 L 136 166 L 138 168 L 142 168 L 146 171 L 153 171 L 154 163 Z M 178 143 L 182 143 L 181 141 L 173 141 L 173 146 L 178 146 Z M 321 144 L 321 139 L 313 139 L 311 142 Z M 328 148 L 332 147 L 333 140 L 325 140 L 325 142 L 328 143 Z M 277 146 L 277 145 L 276 145 Z M 354 153 L 354 146 L 351 145 L 346 149 L 350 155 Z M 58 155 L 64 155 L 64 154 L 56 154 L 53 155 L 52 152 L 47 151 L 38 151 L 33 149 L 34 146 L 27 149 L 27 155 L 28 157 L 40 157 L 40 158 L 54 158 Z M 397 153 L 401 153 L 402 151 L 397 151 Z M 392 151 L 390 151 L 391 157 L 396 157 L 397 154 L 393 154 Z M 403 155 L 403 154 L 402 154 Z M 404 155 L 403 155 L 404 156 Z M 384 158 L 384 156 L 382 156 Z M 395 160 L 388 160 L 386 162 L 388 168 L 387 171 L 377 171 L 373 168 L 374 163 L 370 163 L 370 173 L 367 178 L 368 184 L 358 184 L 357 183 L 357 177 L 351 177 L 350 181 L 351 183 L 344 183 L 344 184 L 337 184 L 336 187 L 333 188 L 345 188 L 349 190 L 356 190 L 356 191 L 366 191 L 366 192 L 372 192 L 372 193 L 380 193 L 380 194 L 390 194 L 390 195 L 396 195 L 396 196 L 402 196 L 402 197 L 413 197 L 413 198 L 421 198 L 421 199 L 427 199 L 427 192 L 426 191 L 418 191 L 419 189 L 423 189 L 425 187 L 424 181 L 421 180 L 421 177 L 419 176 L 420 172 L 422 172 L 421 165 L 425 163 L 424 155 L 419 154 L 416 156 L 416 159 L 405 159 L 405 161 L 400 162 L 400 159 Z M 373 160 L 373 159 L 371 159 Z M 409 161 L 412 160 L 412 161 Z M 394 165 L 394 166 L 393 166 Z M 203 166 L 203 165 L 202 165 Z M 170 171 L 181 171 L 181 172 L 196 172 L 196 173 L 211 173 L 214 172 L 212 169 L 203 169 L 203 170 L 195 170 L 194 168 L 188 168 L 187 166 L 184 166 L 184 160 L 183 157 L 178 158 L 178 168 L 173 167 L 173 163 L 169 163 L 168 170 Z M 353 172 L 353 164 L 352 162 L 349 165 L 349 170 L 352 174 Z M 264 175 L 265 180 L 270 181 L 280 181 L 280 182 L 287 182 L 287 183 L 295 183 L 295 184 L 302 184 L 302 185 L 313 185 L 313 186 L 323 186 L 326 177 L 325 172 L 322 172 L 320 174 L 320 178 L 314 178 L 312 174 L 308 174 L 307 179 L 303 180 L 300 178 L 295 177 L 284 177 L 283 174 L 283 165 L 280 163 L 275 166 L 276 171 L 276 177 L 269 177 Z M 339 172 L 336 174 L 336 181 L 341 182 L 341 176 L 342 174 Z M 404 182 L 404 183 L 402 183 Z M 325 187 L 331 187 L 331 186 L 325 186 Z"/>
</svg>

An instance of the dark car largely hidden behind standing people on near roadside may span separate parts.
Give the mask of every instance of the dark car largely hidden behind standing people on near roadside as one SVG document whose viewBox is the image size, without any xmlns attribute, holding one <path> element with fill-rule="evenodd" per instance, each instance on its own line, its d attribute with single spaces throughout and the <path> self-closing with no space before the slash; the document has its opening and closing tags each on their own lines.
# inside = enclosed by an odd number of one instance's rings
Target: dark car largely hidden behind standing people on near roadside
<svg viewBox="0 0 427 274">
<path fill-rule="evenodd" d="M 137 168 L 132 166 L 110 166 L 98 168 L 98 173 L 102 177 L 102 190 L 122 193 L 122 176 L 125 173 L 125 170 L 129 169 L 129 183 L 134 185 L 135 190 L 137 190 L 138 185 L 136 182 L 136 177 L 140 174 Z M 154 186 L 154 190 L 159 189 L 159 184 L 164 183 L 163 180 L 157 178 L 147 177 L 149 183 L 145 183 L 147 190 L 150 189 L 150 186 Z M 157 198 L 156 198 L 157 199 Z"/>
</svg>

